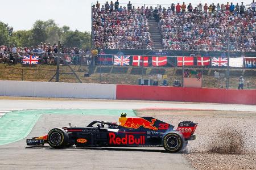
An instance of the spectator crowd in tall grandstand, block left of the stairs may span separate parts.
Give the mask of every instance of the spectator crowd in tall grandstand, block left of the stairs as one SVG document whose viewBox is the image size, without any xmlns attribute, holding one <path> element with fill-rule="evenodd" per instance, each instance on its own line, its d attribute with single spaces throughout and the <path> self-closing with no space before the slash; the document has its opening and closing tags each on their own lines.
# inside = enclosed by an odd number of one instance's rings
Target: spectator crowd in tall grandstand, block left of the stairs
<svg viewBox="0 0 256 170">
<path fill-rule="evenodd" d="M 129 3 L 130 4 L 130 3 Z M 95 48 L 152 49 L 144 8 L 134 10 L 106 2 L 92 7 L 92 31 Z"/>
</svg>

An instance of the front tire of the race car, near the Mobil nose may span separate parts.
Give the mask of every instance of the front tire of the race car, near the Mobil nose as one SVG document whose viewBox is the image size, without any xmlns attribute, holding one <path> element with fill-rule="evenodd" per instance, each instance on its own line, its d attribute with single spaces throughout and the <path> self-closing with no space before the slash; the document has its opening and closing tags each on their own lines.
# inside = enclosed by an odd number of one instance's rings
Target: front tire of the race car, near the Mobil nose
<svg viewBox="0 0 256 170">
<path fill-rule="evenodd" d="M 61 148 L 68 145 L 68 133 L 64 129 L 54 128 L 48 133 L 48 144 L 53 148 Z"/>
</svg>

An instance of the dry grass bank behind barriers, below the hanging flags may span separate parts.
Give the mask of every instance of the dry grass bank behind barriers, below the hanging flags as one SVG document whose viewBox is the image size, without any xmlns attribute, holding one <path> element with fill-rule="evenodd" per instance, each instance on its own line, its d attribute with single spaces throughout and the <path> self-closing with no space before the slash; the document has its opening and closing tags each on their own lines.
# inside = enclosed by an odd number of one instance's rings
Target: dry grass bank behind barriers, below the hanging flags
<svg viewBox="0 0 256 170">
<path fill-rule="evenodd" d="M 161 79 L 157 78 L 157 75 L 151 75 L 150 72 L 152 67 L 147 67 L 146 73 L 143 75 L 138 74 L 130 74 L 131 69 L 133 67 L 129 67 L 126 74 L 118 74 L 118 73 L 96 73 L 97 68 L 94 68 L 93 74 L 90 74 L 89 77 L 84 77 L 84 73 L 89 72 L 89 66 L 71 66 L 73 70 L 75 70 L 76 74 L 81 79 L 82 83 L 109 83 L 109 84 L 138 84 L 139 78 L 144 79 L 153 79 L 159 80 L 162 82 Z M 106 66 L 104 66 L 106 67 Z M 108 66 L 113 67 L 113 66 Z M 169 67 L 164 68 L 167 74 L 167 80 L 170 86 L 172 86 L 172 82 L 175 79 L 182 79 L 181 75 L 176 75 L 177 68 Z M 113 68 L 112 68 L 113 70 Z M 205 69 L 206 74 L 204 75 L 203 79 L 203 87 L 212 87 L 218 88 L 221 86 L 226 87 L 225 79 L 222 81 L 218 81 L 217 78 L 210 75 L 212 71 L 216 69 Z M 230 69 L 233 73 L 241 73 L 241 70 L 244 69 Z M 225 70 L 223 70 L 225 71 Z M 71 73 L 71 69 L 68 66 L 60 66 L 60 72 L 66 74 L 60 74 L 60 82 L 79 82 L 76 79 L 76 76 Z M 52 76 L 56 73 L 56 66 L 53 65 L 38 65 L 34 67 L 22 66 L 18 65 L 6 65 L 0 64 L 0 80 L 24 80 L 24 81 L 38 81 L 38 82 L 47 82 Z M 231 75 L 229 78 L 229 87 L 236 89 L 238 87 L 238 75 L 234 76 Z M 53 79 L 55 81 L 55 79 Z M 245 82 L 250 83 L 251 89 L 256 89 L 256 75 L 245 76 Z M 245 88 L 247 88 L 245 83 Z"/>
</svg>

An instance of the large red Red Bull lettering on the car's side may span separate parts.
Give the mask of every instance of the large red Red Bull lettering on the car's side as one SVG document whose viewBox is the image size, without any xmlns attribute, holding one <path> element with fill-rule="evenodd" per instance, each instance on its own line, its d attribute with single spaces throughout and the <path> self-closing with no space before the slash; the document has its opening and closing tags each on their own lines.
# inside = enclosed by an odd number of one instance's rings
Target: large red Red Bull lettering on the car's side
<svg viewBox="0 0 256 170">
<path fill-rule="evenodd" d="M 109 144 L 113 145 L 144 145 L 145 137 L 140 136 L 139 138 L 135 138 L 134 135 L 126 134 L 125 137 L 120 138 L 116 137 L 115 133 L 109 133 Z"/>
</svg>

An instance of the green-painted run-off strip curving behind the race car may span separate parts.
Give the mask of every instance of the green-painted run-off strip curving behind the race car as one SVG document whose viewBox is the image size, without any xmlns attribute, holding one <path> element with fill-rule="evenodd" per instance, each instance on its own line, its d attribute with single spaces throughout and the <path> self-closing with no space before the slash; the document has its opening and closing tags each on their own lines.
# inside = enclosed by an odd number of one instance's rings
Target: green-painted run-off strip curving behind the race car
<svg viewBox="0 0 256 170">
<path fill-rule="evenodd" d="M 0 145 L 26 138 L 43 114 L 110 115 L 118 118 L 122 112 L 135 116 L 133 110 L 119 109 L 35 109 L 9 112 L 0 118 Z"/>
</svg>

